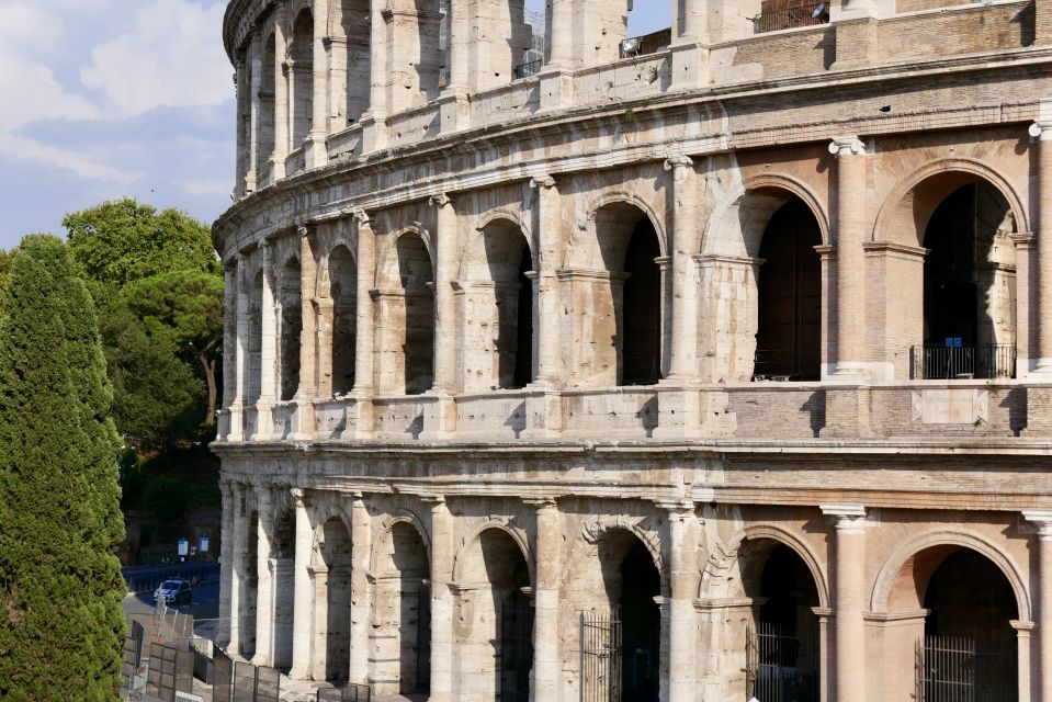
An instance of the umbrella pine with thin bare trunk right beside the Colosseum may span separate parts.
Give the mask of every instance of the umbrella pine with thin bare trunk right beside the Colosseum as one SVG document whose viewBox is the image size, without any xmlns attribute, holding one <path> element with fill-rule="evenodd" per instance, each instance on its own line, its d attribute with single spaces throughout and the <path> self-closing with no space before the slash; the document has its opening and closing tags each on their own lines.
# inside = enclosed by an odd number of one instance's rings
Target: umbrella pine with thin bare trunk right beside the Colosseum
<svg viewBox="0 0 1052 702">
<path fill-rule="evenodd" d="M 200 364 L 208 388 L 204 424 L 212 426 L 223 341 L 223 278 L 194 270 L 169 271 L 127 285 L 123 302 L 143 320 L 147 333 L 170 339 Z"/>
</svg>

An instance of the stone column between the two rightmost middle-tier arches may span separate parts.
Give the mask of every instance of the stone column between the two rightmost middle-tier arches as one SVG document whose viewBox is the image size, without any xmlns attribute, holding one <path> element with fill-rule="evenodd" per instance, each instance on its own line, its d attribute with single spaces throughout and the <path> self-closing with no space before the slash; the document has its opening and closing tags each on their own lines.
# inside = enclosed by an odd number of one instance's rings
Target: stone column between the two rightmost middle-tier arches
<svg viewBox="0 0 1052 702">
<path fill-rule="evenodd" d="M 829 144 L 837 157 L 837 366 L 844 380 L 866 377 L 866 145 L 857 136 Z"/>
</svg>

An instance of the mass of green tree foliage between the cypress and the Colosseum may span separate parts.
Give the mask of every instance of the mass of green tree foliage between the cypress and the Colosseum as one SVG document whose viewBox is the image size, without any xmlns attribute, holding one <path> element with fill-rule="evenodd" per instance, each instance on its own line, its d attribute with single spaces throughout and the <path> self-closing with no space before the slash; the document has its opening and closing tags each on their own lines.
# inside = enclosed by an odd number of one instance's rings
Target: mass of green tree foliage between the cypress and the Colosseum
<svg viewBox="0 0 1052 702">
<path fill-rule="evenodd" d="M 69 214 L 63 224 L 103 309 L 117 428 L 148 443 L 211 430 L 223 276 L 208 227 L 131 199 Z"/>
</svg>

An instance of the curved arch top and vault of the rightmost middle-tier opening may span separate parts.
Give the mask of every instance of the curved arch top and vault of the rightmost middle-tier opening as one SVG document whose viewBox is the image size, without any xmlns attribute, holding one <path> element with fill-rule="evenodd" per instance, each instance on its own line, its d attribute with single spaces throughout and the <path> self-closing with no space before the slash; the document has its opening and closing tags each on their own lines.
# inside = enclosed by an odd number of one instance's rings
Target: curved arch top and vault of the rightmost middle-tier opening
<svg viewBox="0 0 1052 702">
<path fill-rule="evenodd" d="M 923 246 L 928 219 L 939 203 L 953 190 L 981 180 L 993 185 L 1008 202 L 1016 231 L 1029 231 L 1030 219 L 1027 211 L 1008 179 L 975 159 L 944 158 L 927 163 L 898 181 L 881 203 L 873 225 L 872 240 Z M 925 182 L 929 182 L 929 189 L 917 199 L 914 191 Z M 908 236 L 908 231 L 916 231 L 921 240 L 902 240 L 902 237 Z M 895 233 L 903 234 L 896 238 Z"/>
</svg>

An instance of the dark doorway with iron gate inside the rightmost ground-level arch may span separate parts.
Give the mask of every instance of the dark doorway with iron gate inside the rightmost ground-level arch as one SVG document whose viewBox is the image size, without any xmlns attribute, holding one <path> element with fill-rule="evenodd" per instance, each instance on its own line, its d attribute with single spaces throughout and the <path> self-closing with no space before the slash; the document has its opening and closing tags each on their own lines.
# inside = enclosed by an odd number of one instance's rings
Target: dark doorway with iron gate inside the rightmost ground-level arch
<svg viewBox="0 0 1052 702">
<path fill-rule="evenodd" d="M 1018 699 L 1016 597 L 989 559 L 962 548 L 936 568 L 925 590 L 924 699 Z M 951 697 L 951 695 L 958 697 Z"/>
</svg>

